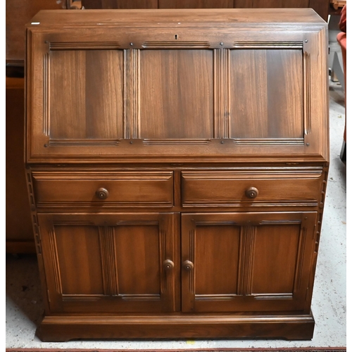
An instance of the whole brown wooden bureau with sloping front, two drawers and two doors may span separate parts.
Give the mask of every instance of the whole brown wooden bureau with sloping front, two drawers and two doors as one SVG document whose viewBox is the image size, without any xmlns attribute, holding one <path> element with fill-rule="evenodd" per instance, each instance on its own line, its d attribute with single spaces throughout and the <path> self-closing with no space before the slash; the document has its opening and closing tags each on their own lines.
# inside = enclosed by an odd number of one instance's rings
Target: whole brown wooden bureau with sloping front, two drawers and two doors
<svg viewBox="0 0 352 352">
<path fill-rule="evenodd" d="M 311 339 L 327 23 L 82 10 L 26 28 L 39 338 Z"/>
</svg>

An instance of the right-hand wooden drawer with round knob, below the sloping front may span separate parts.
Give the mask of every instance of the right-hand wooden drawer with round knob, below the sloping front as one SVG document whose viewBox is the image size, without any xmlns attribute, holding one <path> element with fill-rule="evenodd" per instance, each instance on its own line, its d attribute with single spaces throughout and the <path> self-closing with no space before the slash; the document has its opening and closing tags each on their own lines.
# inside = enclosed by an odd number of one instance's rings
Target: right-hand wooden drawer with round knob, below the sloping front
<svg viewBox="0 0 352 352">
<path fill-rule="evenodd" d="M 182 172 L 182 206 L 318 206 L 322 169 Z M 320 180 L 320 181 L 319 181 Z"/>
</svg>

